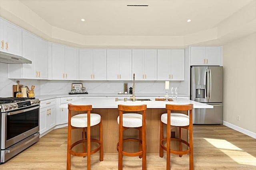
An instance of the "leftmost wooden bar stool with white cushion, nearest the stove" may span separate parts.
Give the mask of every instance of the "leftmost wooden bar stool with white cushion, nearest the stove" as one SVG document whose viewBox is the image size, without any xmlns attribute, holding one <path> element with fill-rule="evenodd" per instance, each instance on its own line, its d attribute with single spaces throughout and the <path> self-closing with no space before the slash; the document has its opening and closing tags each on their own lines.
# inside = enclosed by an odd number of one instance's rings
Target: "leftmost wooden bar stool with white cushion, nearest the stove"
<svg viewBox="0 0 256 170">
<path fill-rule="evenodd" d="M 87 156 L 87 169 L 90 170 L 90 155 L 100 150 L 100 161 L 103 160 L 103 143 L 102 143 L 102 118 L 99 114 L 90 113 L 92 105 L 72 105 L 68 104 L 68 152 L 67 152 L 67 170 L 71 168 L 71 154 L 74 156 Z M 78 111 L 78 114 L 71 117 L 71 111 Z M 84 113 L 84 112 L 87 113 Z M 91 139 L 91 127 L 100 125 L 100 140 Z M 71 144 L 71 130 L 83 128 L 83 139 Z M 87 128 L 87 139 L 85 131 Z M 99 146 L 91 151 L 91 142 L 96 142 Z M 83 143 L 83 152 L 74 152 L 72 148 L 79 143 Z M 87 152 L 86 152 L 87 143 Z"/>
</svg>

